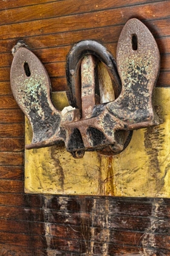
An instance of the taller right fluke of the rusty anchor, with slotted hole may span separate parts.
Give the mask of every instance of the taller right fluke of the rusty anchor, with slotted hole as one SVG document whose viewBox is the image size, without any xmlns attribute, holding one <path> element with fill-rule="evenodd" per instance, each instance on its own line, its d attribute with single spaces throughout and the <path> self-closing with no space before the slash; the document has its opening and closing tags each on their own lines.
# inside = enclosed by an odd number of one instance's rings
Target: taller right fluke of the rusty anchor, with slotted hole
<svg viewBox="0 0 170 256">
<path fill-rule="evenodd" d="M 123 121 L 127 129 L 157 125 L 159 120 L 152 104 L 152 91 L 160 69 L 160 54 L 151 32 L 137 19 L 127 21 L 121 32 L 117 65 L 122 90 L 107 109 Z"/>
</svg>

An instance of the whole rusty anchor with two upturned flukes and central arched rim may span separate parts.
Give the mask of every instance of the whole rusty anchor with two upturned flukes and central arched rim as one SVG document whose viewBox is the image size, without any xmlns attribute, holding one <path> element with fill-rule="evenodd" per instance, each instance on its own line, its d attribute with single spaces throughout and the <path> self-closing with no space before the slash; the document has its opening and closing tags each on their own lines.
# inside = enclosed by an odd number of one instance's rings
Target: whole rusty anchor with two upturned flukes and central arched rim
<svg viewBox="0 0 170 256">
<path fill-rule="evenodd" d="M 101 100 L 98 62 L 106 67 L 114 101 Z M 30 121 L 32 143 L 26 149 L 60 144 L 73 157 L 85 151 L 118 154 L 132 130 L 161 123 L 154 110 L 153 89 L 160 69 L 160 54 L 151 32 L 133 18 L 121 31 L 117 65 L 107 49 L 93 40 L 75 44 L 67 56 L 70 107 L 57 110 L 50 99 L 50 80 L 40 60 L 26 48 L 13 58 L 11 87 L 19 107 Z"/>
</svg>

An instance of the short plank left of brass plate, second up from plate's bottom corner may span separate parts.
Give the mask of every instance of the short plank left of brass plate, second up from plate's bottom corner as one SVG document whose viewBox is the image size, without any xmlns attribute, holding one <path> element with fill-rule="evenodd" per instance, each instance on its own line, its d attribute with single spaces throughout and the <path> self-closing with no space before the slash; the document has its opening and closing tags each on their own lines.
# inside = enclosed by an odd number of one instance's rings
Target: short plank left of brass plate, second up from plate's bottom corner
<svg viewBox="0 0 170 256">
<path fill-rule="evenodd" d="M 22 166 L 0 166 L 1 179 L 23 180 Z"/>
</svg>

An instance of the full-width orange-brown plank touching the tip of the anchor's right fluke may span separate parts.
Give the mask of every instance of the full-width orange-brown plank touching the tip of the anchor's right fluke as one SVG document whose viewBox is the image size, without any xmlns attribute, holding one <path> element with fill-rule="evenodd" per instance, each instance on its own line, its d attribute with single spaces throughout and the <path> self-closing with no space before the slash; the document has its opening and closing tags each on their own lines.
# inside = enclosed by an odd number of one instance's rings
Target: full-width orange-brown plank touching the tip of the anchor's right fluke
<svg viewBox="0 0 170 256">
<path fill-rule="evenodd" d="M 135 16 L 141 20 L 158 20 L 168 18 L 169 1 L 161 1 L 120 9 L 101 10 L 98 12 L 84 13 L 78 15 L 61 16 L 49 20 L 35 20 L 24 23 L 15 23 L 13 26 L 1 26 L 1 38 L 28 37 L 32 35 L 50 34 L 56 32 L 89 29 L 91 27 L 103 27 L 126 23 L 129 18 Z M 149 10 L 149 11 L 148 11 Z M 166 11 L 167 10 L 167 11 Z M 138 14 L 137 14 L 138 13 Z M 151 18 L 152 17 L 152 18 Z"/>
</svg>

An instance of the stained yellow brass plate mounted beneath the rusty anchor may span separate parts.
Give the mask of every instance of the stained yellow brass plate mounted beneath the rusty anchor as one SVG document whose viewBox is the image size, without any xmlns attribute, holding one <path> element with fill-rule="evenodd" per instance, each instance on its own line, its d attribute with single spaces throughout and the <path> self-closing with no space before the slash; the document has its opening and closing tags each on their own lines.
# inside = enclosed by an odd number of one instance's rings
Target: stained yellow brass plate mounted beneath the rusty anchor
<svg viewBox="0 0 170 256">
<path fill-rule="evenodd" d="M 25 150 L 25 192 L 170 197 L 169 98 L 170 88 L 155 89 L 155 106 L 164 123 L 135 130 L 121 154 L 86 152 L 75 159 L 57 146 Z M 26 122 L 26 144 L 31 136 Z"/>
</svg>

